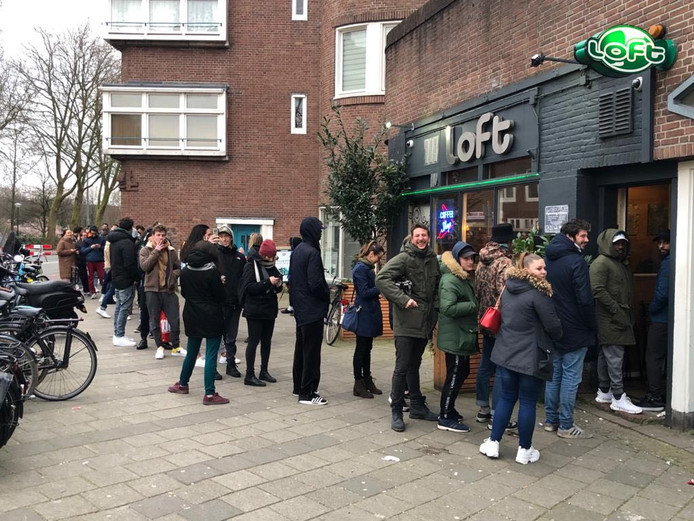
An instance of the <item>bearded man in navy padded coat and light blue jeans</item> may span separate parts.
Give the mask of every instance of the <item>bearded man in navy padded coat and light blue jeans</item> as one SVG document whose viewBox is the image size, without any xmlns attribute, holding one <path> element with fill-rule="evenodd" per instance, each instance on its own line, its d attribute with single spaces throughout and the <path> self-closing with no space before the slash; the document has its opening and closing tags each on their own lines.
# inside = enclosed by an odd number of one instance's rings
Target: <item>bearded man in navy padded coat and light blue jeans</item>
<svg viewBox="0 0 694 521">
<path fill-rule="evenodd" d="M 590 223 L 571 219 L 547 245 L 547 281 L 564 331 L 555 343 L 554 374 L 545 387 L 545 430 L 560 438 L 592 438 L 574 424 L 576 394 L 583 375 L 583 360 L 597 342 L 595 299 L 588 264 L 582 252 L 588 244 Z"/>
</svg>

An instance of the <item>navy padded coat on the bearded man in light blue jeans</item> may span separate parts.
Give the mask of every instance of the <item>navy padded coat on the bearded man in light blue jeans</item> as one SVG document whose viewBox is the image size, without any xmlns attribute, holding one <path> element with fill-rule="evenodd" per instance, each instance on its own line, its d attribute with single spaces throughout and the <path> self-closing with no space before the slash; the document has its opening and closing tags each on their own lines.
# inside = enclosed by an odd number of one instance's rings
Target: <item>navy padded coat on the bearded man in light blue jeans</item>
<svg viewBox="0 0 694 521">
<path fill-rule="evenodd" d="M 588 264 L 578 246 L 566 235 L 557 235 L 547 245 L 547 282 L 554 292 L 564 335 L 556 342 L 560 352 L 596 345 L 598 323 L 595 299 L 590 287 Z"/>
</svg>

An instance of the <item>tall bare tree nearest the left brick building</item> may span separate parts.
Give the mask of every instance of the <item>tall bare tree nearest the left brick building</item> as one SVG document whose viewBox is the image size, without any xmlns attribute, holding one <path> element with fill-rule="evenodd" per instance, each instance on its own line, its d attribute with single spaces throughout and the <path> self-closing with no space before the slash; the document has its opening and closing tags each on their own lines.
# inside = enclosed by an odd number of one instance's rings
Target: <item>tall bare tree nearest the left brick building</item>
<svg viewBox="0 0 694 521">
<path fill-rule="evenodd" d="M 99 86 L 114 81 L 119 66 L 112 48 L 92 36 L 87 25 L 61 35 L 38 32 L 41 45 L 27 49 L 20 72 L 35 92 L 31 126 L 55 185 L 47 222 L 52 240 L 63 202 L 74 193 L 74 204 L 80 206 L 82 194 L 100 178 Z"/>
</svg>

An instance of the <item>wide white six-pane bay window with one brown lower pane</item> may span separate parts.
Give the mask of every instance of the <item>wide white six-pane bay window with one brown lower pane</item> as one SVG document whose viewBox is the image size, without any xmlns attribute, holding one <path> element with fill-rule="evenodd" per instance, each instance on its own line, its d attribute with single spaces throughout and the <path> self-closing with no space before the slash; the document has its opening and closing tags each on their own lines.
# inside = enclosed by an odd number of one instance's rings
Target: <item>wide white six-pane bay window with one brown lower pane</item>
<svg viewBox="0 0 694 521">
<path fill-rule="evenodd" d="M 226 155 L 226 88 L 102 88 L 104 141 L 114 155 Z"/>
</svg>

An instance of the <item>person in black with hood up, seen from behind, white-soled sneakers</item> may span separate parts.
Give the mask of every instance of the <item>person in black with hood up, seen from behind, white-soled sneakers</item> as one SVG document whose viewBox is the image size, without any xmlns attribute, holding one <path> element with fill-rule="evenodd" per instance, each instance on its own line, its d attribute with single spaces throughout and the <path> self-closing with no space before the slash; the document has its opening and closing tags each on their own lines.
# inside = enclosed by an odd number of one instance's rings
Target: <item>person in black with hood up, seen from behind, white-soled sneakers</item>
<svg viewBox="0 0 694 521">
<path fill-rule="evenodd" d="M 326 405 L 318 394 L 323 324 L 330 304 L 330 289 L 325 281 L 320 238 L 323 223 L 306 217 L 299 227 L 301 243 L 292 253 L 289 272 L 292 288 L 289 303 L 294 308 L 296 343 L 294 345 L 294 394 L 304 405 Z"/>
</svg>

